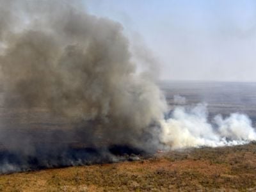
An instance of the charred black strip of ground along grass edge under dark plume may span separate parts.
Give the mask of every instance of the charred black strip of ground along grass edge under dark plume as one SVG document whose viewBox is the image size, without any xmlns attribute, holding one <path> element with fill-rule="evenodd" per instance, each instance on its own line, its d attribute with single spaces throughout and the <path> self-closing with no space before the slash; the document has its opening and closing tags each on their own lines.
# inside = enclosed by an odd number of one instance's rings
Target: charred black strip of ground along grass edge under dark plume
<svg viewBox="0 0 256 192">
<path fill-rule="evenodd" d="M 45 151 L 40 146 L 44 144 L 34 145 L 36 152 L 31 155 L 10 152 L 2 148 L 0 150 L 1 173 L 135 161 L 146 155 L 143 150 L 129 145 L 111 145 L 104 148 L 70 145 L 67 148 L 52 148 L 51 151 Z"/>
</svg>

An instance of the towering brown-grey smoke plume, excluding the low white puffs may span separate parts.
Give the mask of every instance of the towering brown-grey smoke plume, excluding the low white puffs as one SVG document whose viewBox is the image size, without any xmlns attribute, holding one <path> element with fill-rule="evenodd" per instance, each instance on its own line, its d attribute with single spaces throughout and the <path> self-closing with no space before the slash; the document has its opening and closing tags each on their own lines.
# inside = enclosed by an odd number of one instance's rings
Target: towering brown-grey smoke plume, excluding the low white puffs
<svg viewBox="0 0 256 192">
<path fill-rule="evenodd" d="M 1 31 L 8 104 L 45 108 L 72 122 L 95 121 L 115 142 L 131 141 L 161 117 L 161 92 L 135 75 L 120 24 L 79 12 L 65 1 L 28 3 L 15 15 L 28 19 L 28 24 L 15 22 L 24 29 L 15 30 L 9 22 L 12 30 Z"/>
</svg>

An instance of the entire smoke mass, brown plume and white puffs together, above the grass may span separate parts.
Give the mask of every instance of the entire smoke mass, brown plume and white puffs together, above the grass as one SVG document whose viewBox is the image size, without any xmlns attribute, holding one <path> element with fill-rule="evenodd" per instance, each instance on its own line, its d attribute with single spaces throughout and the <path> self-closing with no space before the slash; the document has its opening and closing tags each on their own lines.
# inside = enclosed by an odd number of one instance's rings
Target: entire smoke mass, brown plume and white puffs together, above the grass
<svg viewBox="0 0 256 192">
<path fill-rule="evenodd" d="M 74 1 L 0 0 L 0 172 L 255 140 L 245 115 L 210 124 L 197 106 L 164 118 L 163 93 L 136 72 L 129 49 L 120 24 Z"/>
</svg>

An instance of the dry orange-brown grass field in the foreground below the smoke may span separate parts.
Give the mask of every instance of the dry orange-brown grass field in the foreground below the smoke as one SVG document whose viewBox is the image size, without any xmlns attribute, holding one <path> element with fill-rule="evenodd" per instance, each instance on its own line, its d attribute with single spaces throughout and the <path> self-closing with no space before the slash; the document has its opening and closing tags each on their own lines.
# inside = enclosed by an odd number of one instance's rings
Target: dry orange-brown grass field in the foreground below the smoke
<svg viewBox="0 0 256 192">
<path fill-rule="evenodd" d="M 0 176 L 1 191 L 256 191 L 256 143 Z"/>
</svg>

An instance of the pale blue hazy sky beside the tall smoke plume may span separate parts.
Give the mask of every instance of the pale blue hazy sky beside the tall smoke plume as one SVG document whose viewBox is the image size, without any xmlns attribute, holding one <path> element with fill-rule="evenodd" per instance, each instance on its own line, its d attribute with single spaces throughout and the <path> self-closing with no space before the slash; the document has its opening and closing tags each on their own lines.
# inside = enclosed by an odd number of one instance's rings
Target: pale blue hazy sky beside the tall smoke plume
<svg viewBox="0 0 256 192">
<path fill-rule="evenodd" d="M 256 81 L 256 1 L 84 0 L 161 63 L 161 79 Z"/>
</svg>

